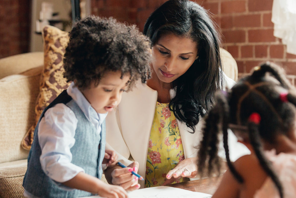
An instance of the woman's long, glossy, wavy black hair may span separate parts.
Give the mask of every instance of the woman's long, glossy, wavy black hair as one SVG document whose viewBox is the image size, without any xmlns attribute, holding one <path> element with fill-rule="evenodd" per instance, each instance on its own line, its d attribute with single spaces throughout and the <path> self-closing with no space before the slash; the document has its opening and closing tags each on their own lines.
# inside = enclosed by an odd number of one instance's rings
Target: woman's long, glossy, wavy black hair
<svg viewBox="0 0 296 198">
<path fill-rule="evenodd" d="M 173 33 L 197 43 L 199 58 L 173 82 L 176 96 L 170 109 L 176 118 L 195 131 L 199 115 L 210 110 L 214 93 L 222 89 L 222 66 L 219 51 L 220 35 L 207 11 L 189 0 L 169 0 L 147 19 L 144 34 L 155 45 L 163 34 Z"/>
</svg>

